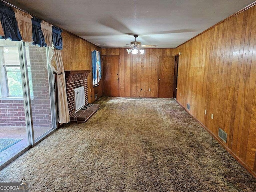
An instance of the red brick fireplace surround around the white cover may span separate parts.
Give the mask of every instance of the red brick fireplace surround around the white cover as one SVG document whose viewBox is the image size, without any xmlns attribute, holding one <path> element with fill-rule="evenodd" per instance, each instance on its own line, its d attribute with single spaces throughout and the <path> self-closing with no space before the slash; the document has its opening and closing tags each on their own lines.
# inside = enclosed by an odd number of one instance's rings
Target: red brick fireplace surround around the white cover
<svg viewBox="0 0 256 192">
<path fill-rule="evenodd" d="M 75 88 L 84 86 L 85 104 L 88 104 L 87 78 L 88 78 L 88 73 L 66 74 L 66 91 L 67 91 L 67 98 L 68 98 L 69 115 L 72 115 L 75 112 L 75 97 L 74 97 Z"/>
</svg>

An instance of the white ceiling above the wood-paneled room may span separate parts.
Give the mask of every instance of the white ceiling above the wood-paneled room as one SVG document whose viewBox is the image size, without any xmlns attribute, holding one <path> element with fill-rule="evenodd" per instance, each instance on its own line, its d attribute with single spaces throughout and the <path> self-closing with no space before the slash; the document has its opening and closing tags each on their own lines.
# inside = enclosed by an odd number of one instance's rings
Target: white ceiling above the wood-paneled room
<svg viewBox="0 0 256 192">
<path fill-rule="evenodd" d="M 100 47 L 174 48 L 254 0 L 6 0 Z"/>
</svg>

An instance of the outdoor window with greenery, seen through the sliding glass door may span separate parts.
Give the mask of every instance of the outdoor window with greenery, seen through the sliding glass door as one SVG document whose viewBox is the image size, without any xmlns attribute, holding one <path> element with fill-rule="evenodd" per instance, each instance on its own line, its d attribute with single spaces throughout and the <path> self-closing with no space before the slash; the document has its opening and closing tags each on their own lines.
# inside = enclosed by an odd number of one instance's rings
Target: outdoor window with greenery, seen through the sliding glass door
<svg viewBox="0 0 256 192">
<path fill-rule="evenodd" d="M 28 65 L 28 78 L 30 84 L 30 96 L 33 98 L 32 76 L 28 46 L 25 47 Z M 23 98 L 22 78 L 20 72 L 20 51 L 18 45 L 0 46 L 0 96 L 2 98 Z"/>
</svg>

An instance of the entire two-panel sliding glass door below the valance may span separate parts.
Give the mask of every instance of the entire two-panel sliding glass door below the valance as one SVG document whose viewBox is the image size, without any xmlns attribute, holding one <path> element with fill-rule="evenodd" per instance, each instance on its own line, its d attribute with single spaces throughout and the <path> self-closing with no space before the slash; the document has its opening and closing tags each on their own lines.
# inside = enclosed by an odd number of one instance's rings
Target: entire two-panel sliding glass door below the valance
<svg viewBox="0 0 256 192">
<path fill-rule="evenodd" d="M 45 47 L 0 40 L 0 168 L 56 129 Z"/>
</svg>

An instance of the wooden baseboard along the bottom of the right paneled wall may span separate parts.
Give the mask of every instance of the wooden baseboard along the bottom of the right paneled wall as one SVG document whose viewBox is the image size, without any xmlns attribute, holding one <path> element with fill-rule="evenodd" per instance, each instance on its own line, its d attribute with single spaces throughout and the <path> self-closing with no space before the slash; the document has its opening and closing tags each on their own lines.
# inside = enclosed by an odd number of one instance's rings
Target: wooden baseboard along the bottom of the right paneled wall
<svg viewBox="0 0 256 192">
<path fill-rule="evenodd" d="M 208 131 L 208 133 L 211 134 L 211 136 L 217 140 L 244 168 L 246 168 L 246 170 L 248 170 L 248 172 L 250 172 L 250 174 L 252 174 L 255 178 L 256 178 L 256 173 L 247 165 L 245 164 L 236 154 L 234 154 L 234 152 L 232 152 L 227 146 L 225 146 L 222 143 L 222 140 L 220 140 L 217 136 L 215 136 L 204 124 L 202 124 L 202 122 L 200 122 L 196 117 L 194 117 L 190 111 L 188 111 L 184 106 L 182 106 L 182 104 L 180 104 L 180 102 L 178 102 L 176 100 L 176 102 L 184 109 L 186 110 L 186 112 L 188 112 L 188 114 L 190 114 L 206 131 Z"/>
</svg>

